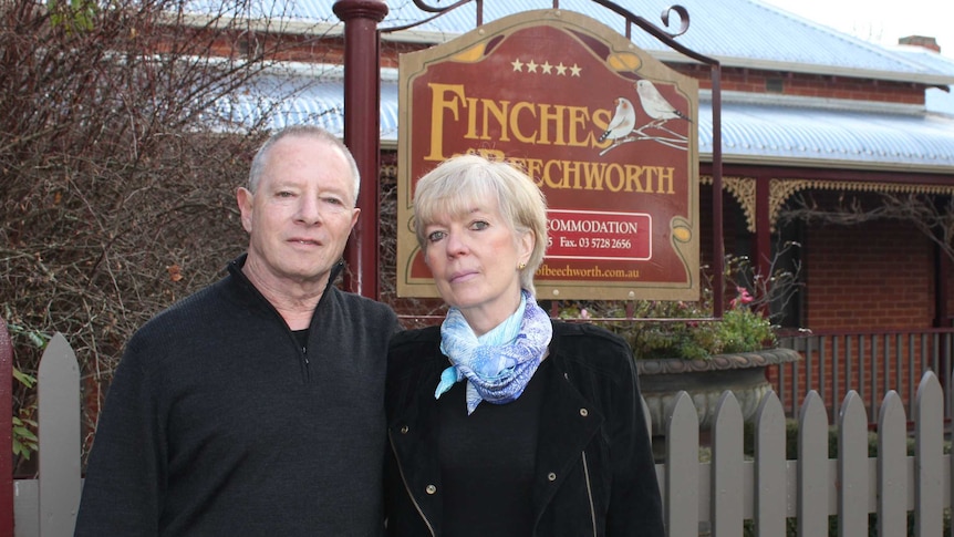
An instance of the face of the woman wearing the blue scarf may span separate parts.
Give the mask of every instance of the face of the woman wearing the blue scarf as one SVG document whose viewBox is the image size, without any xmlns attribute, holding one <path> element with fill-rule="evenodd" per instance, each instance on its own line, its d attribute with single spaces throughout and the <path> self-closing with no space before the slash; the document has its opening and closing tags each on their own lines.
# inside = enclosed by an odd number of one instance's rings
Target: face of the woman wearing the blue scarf
<svg viewBox="0 0 954 537">
<path fill-rule="evenodd" d="M 425 227 L 424 259 L 437 291 L 483 334 L 517 310 L 518 266 L 533 249 L 533 235 L 516 234 L 494 199 L 475 202 L 460 215 L 437 215 Z"/>
</svg>

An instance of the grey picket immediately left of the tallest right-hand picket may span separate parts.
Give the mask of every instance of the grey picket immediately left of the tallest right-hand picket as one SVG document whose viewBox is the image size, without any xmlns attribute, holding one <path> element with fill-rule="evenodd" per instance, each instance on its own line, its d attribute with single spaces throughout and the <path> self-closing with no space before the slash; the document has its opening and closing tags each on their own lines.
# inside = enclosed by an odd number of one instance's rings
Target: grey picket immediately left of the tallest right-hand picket
<svg viewBox="0 0 954 537">
<path fill-rule="evenodd" d="M 878 535 L 903 537 L 908 531 L 908 428 L 904 404 L 891 390 L 878 416 Z"/>
</svg>

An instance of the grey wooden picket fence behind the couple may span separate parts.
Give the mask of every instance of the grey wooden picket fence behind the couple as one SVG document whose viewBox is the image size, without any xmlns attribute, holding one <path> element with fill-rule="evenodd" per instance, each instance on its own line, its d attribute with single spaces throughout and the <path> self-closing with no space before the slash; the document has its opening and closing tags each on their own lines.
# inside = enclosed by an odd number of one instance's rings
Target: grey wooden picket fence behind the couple
<svg viewBox="0 0 954 537">
<path fill-rule="evenodd" d="M 62 335 L 43 354 L 39 371 L 39 478 L 14 481 L 14 537 L 72 535 L 80 500 L 80 376 L 75 355 Z M 840 536 L 869 535 L 877 513 L 881 537 L 942 535 L 951 507 L 951 456 L 943 453 L 944 393 L 927 372 L 917 388 L 914 415 L 895 392 L 884 395 L 878 416 L 878 457 L 868 456 L 868 416 L 849 392 L 834 420 L 839 456 L 828 457 L 829 416 L 817 392 L 803 399 L 799 415 L 798 459 L 786 461 L 786 415 L 775 393 L 766 395 L 755 417 L 755 456 L 743 452 L 739 405 L 725 392 L 711 435 L 712 456 L 699 459 L 698 417 L 688 395 L 676 397 L 666 436 L 665 463 L 656 465 L 671 537 L 739 537 L 744 520 L 751 535 L 786 536 L 794 519 L 799 537 L 829 535 L 837 515 Z M 914 454 L 906 454 L 908 422 L 913 421 Z"/>
</svg>

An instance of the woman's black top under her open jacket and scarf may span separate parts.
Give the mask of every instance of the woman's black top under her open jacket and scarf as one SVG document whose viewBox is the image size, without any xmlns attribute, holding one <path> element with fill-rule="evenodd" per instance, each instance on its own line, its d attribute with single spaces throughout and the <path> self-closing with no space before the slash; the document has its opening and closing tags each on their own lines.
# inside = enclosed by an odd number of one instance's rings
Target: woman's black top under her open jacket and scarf
<svg viewBox="0 0 954 537">
<path fill-rule="evenodd" d="M 548 365 L 543 360 L 538 373 Z M 466 382 L 437 401 L 443 535 L 526 537 L 532 533 L 537 430 L 546 375 L 535 374 L 514 402 L 481 402 L 467 415 Z"/>
</svg>

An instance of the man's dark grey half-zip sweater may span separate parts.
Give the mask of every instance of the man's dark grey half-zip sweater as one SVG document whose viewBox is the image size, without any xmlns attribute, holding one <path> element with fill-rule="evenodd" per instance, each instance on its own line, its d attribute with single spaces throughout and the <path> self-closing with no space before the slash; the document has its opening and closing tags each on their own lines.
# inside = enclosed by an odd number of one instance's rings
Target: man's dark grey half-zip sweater
<svg viewBox="0 0 954 537">
<path fill-rule="evenodd" d="M 396 317 L 329 285 L 303 352 L 243 262 L 129 340 L 75 535 L 379 535 Z"/>
</svg>

